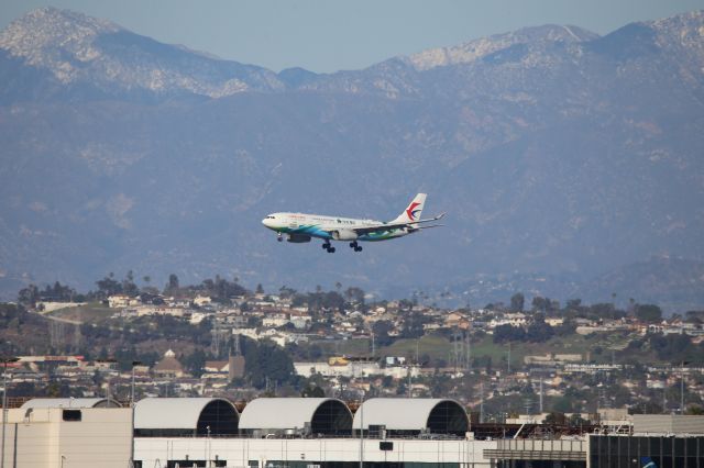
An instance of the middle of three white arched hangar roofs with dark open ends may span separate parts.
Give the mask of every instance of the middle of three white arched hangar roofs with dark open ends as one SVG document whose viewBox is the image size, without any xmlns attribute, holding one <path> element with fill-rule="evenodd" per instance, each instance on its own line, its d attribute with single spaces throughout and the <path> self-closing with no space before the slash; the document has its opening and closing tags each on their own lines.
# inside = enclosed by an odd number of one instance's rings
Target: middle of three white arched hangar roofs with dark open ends
<svg viewBox="0 0 704 468">
<path fill-rule="evenodd" d="M 349 433 L 352 413 L 333 398 L 257 398 L 240 417 L 240 428 L 245 431 L 302 430 L 308 424 L 312 433 Z"/>
</svg>

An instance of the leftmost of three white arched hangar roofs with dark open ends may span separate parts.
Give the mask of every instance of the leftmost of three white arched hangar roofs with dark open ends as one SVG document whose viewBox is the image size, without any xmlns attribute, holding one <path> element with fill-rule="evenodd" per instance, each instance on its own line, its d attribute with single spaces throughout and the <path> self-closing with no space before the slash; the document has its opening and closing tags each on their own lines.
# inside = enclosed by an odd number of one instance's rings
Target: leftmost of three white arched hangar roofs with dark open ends
<svg viewBox="0 0 704 468">
<path fill-rule="evenodd" d="M 239 413 L 222 398 L 145 398 L 134 406 L 135 430 L 188 430 L 235 434 Z"/>
</svg>

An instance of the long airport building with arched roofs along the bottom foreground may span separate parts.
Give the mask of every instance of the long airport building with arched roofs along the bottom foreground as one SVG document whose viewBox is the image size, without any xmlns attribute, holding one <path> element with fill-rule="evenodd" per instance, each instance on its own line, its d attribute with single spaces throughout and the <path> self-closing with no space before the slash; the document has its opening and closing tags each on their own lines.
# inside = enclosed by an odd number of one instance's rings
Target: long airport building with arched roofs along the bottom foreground
<svg viewBox="0 0 704 468">
<path fill-rule="evenodd" d="M 3 411 L 2 434 L 0 468 L 704 467 L 704 416 L 472 424 L 446 399 L 33 399 Z"/>
</svg>

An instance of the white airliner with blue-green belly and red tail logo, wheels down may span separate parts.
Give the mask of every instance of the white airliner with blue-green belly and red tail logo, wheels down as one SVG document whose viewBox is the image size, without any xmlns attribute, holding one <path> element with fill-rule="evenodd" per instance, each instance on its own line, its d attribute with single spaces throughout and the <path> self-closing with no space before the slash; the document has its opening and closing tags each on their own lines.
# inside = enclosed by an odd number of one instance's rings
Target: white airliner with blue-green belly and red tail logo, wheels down
<svg viewBox="0 0 704 468">
<path fill-rule="evenodd" d="M 386 223 L 320 214 L 272 213 L 262 220 L 262 224 L 276 232 L 278 242 L 284 241 L 284 234 L 288 236 L 288 242 L 295 244 L 310 242 L 317 237 L 323 241 L 322 248 L 329 254 L 336 250 L 330 241 L 349 242 L 354 252 L 362 252 L 362 246 L 359 244 L 361 241 L 388 241 L 421 230 L 440 227 L 442 224 L 426 225 L 426 223 L 441 220 L 446 213 L 427 220 L 420 219 L 426 197 L 426 193 L 418 193 L 395 220 Z"/>
</svg>

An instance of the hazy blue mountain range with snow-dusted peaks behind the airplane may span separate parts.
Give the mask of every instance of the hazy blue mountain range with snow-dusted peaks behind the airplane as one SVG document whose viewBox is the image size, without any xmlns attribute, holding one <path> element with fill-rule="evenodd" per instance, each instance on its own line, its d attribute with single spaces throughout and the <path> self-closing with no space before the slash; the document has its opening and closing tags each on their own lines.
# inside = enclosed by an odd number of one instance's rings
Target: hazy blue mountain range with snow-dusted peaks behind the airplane
<svg viewBox="0 0 704 468">
<path fill-rule="evenodd" d="M 544 25 L 276 75 L 31 12 L 0 33 L 1 289 L 133 269 L 383 292 L 702 260 L 703 32 L 702 12 L 605 36 Z M 421 190 L 448 229 L 359 255 L 260 224 L 392 219 Z"/>
</svg>

